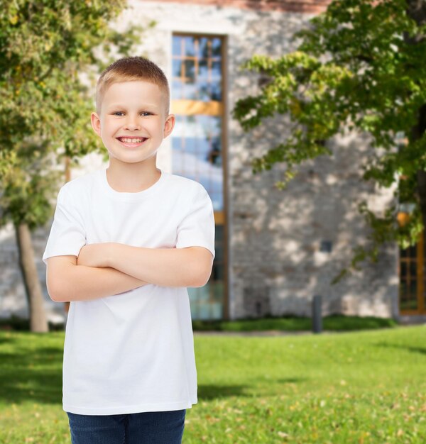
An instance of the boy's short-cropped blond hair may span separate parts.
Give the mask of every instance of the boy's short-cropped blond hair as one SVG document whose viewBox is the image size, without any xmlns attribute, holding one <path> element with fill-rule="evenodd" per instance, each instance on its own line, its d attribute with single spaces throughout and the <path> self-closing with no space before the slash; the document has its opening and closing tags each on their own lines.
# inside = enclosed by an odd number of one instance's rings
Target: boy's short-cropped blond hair
<svg viewBox="0 0 426 444">
<path fill-rule="evenodd" d="M 144 80 L 156 84 L 165 96 L 166 113 L 169 113 L 170 89 L 163 70 L 146 57 L 124 57 L 107 67 L 98 79 L 96 87 L 96 109 L 101 111 L 102 99 L 111 84 Z"/>
</svg>

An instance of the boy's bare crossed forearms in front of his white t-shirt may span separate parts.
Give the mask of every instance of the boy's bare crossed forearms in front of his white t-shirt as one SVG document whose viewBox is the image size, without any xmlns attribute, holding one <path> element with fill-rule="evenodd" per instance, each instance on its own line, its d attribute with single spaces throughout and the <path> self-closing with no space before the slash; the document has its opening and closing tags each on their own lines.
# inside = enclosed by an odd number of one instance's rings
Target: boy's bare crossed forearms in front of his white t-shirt
<svg viewBox="0 0 426 444">
<path fill-rule="evenodd" d="M 207 248 L 139 248 L 119 243 L 85 245 L 78 257 L 48 259 L 48 292 L 54 301 L 84 301 L 155 284 L 202 287 L 212 272 Z"/>
</svg>

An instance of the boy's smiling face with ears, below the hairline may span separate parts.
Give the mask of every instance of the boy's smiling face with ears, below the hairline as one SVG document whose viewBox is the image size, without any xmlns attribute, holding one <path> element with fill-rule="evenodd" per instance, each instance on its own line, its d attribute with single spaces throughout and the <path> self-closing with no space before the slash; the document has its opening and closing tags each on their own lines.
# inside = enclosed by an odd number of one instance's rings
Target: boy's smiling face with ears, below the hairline
<svg viewBox="0 0 426 444">
<path fill-rule="evenodd" d="M 111 84 L 100 114 L 92 113 L 92 127 L 109 152 L 110 165 L 152 160 L 155 166 L 158 148 L 175 125 L 167 105 L 160 88 L 151 82 Z"/>
</svg>

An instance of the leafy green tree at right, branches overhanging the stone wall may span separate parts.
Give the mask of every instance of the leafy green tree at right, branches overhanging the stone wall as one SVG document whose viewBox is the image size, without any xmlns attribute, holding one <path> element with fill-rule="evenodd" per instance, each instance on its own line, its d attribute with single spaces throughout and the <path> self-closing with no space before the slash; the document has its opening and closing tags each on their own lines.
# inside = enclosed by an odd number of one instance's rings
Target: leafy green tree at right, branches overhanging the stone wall
<svg viewBox="0 0 426 444">
<path fill-rule="evenodd" d="M 335 0 L 295 37 L 294 52 L 255 55 L 244 65 L 266 82 L 236 103 L 241 126 L 249 131 L 280 114 L 292 122 L 283 143 L 253 159 L 253 172 L 283 162 L 284 188 L 302 162 L 331 154 L 325 140 L 349 129 L 371 135 L 364 179 L 395 190 L 381 215 L 359 204 L 373 228 L 370 246 L 355 248 L 335 282 L 377 260 L 385 242 L 413 245 L 426 226 L 426 1 Z M 412 204 L 404 226 L 396 220 L 401 202 Z"/>
</svg>

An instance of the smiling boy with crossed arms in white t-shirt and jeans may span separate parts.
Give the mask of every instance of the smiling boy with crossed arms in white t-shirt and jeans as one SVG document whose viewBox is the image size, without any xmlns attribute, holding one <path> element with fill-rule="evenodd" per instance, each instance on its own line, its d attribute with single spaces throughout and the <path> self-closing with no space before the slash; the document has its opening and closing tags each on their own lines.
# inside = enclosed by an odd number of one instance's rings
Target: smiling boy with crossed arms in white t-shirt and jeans
<svg viewBox="0 0 426 444">
<path fill-rule="evenodd" d="M 54 301 L 70 301 L 63 409 L 73 444 L 180 443 L 197 372 L 186 287 L 212 271 L 212 201 L 156 167 L 173 131 L 168 82 L 143 57 L 110 65 L 92 127 L 106 170 L 60 189 L 43 255 Z"/>
</svg>

